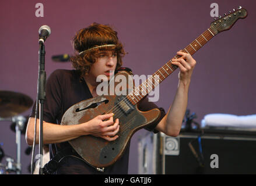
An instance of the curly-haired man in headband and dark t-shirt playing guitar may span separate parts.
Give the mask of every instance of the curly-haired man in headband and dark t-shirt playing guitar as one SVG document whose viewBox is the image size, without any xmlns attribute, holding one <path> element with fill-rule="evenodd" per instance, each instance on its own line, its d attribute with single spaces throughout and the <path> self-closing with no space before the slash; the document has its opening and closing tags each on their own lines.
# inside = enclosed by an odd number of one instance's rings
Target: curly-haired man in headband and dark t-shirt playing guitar
<svg viewBox="0 0 256 186">
<path fill-rule="evenodd" d="M 85 99 L 97 97 L 96 87 L 99 75 L 111 77 L 111 70 L 118 70 L 122 66 L 122 57 L 125 55 L 117 32 L 110 26 L 93 23 L 76 33 L 73 38 L 75 50 L 78 52 L 71 57 L 75 70 L 55 70 L 47 80 L 46 101 L 43 116 L 43 143 L 50 145 L 50 158 L 70 147 L 69 140 L 82 135 L 93 135 L 106 141 L 115 141 L 120 130 L 119 120 L 113 119 L 113 113 L 99 115 L 86 123 L 71 126 L 60 125 L 65 111 L 75 103 Z M 177 52 L 181 56 L 172 59 L 172 64 L 180 69 L 179 82 L 176 95 L 167 113 L 162 108 L 161 117 L 157 122 L 146 127 L 146 130 L 161 131 L 166 135 L 176 137 L 180 133 L 181 124 L 185 115 L 188 100 L 188 88 L 191 74 L 195 67 L 195 60 L 188 53 Z M 158 108 L 148 99 L 139 102 L 139 109 L 149 110 Z M 26 141 L 32 145 L 34 140 L 34 113 L 30 115 L 27 124 Z M 39 122 L 38 122 L 39 123 Z M 38 144 L 38 125 L 36 143 Z M 68 152 L 68 153 L 66 153 Z M 58 162 L 55 174 L 98 174 L 101 173 L 87 164 L 80 156 L 69 148 Z M 106 174 L 128 173 L 129 145 L 124 155 L 113 165 L 106 168 Z"/>
</svg>

